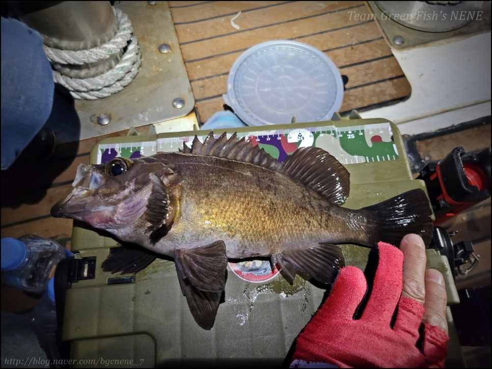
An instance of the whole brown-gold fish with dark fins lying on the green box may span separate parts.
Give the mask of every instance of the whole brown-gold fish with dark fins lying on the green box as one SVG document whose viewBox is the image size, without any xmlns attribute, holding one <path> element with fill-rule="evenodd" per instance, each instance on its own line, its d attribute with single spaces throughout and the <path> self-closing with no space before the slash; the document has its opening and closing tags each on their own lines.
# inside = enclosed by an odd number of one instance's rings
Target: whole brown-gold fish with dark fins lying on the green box
<svg viewBox="0 0 492 369">
<path fill-rule="evenodd" d="M 217 136 L 217 138 L 215 138 Z M 79 164 L 72 192 L 51 209 L 137 245 L 116 247 L 105 271 L 131 273 L 156 256 L 172 258 L 190 312 L 213 327 L 229 260 L 266 258 L 331 285 L 345 266 L 339 244 L 399 245 L 407 233 L 426 244 L 432 210 L 423 189 L 348 209 L 350 174 L 328 152 L 298 148 L 279 162 L 245 137 L 208 134 L 178 152 L 97 165 Z"/>
</svg>

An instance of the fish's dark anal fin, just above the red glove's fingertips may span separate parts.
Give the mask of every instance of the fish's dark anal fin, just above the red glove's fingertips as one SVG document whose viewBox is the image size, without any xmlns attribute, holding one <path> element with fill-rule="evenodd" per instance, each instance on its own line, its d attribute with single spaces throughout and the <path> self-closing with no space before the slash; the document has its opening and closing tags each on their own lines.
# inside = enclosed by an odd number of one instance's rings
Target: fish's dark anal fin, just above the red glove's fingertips
<svg viewBox="0 0 492 369">
<path fill-rule="evenodd" d="M 293 267 L 326 284 L 333 283 L 340 268 L 345 266 L 340 247 L 329 243 L 282 252 L 278 255 L 278 259 L 281 261 L 279 263 L 281 266 L 290 265 L 288 268 Z"/>
</svg>

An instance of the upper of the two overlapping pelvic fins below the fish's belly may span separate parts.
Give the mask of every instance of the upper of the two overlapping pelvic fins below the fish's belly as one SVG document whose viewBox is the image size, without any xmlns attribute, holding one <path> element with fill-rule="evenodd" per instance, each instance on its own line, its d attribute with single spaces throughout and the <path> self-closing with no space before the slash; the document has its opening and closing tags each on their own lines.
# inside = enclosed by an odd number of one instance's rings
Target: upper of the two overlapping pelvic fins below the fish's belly
<svg viewBox="0 0 492 369">
<path fill-rule="evenodd" d="M 174 260 L 178 277 L 200 291 L 222 292 L 226 288 L 227 256 L 223 241 L 196 248 L 177 248 Z"/>
</svg>

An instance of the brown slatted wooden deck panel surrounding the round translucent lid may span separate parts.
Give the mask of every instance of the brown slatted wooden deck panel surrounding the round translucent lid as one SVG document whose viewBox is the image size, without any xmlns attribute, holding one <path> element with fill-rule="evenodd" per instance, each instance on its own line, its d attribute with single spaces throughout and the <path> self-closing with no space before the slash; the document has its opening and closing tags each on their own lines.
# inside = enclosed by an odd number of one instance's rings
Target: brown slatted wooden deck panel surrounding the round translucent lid
<svg viewBox="0 0 492 369">
<path fill-rule="evenodd" d="M 364 2 L 169 2 L 201 122 L 223 110 L 236 59 L 265 41 L 324 52 L 348 77 L 341 113 L 407 98 L 410 85 Z M 231 20 L 239 30 L 231 24 Z"/>
</svg>

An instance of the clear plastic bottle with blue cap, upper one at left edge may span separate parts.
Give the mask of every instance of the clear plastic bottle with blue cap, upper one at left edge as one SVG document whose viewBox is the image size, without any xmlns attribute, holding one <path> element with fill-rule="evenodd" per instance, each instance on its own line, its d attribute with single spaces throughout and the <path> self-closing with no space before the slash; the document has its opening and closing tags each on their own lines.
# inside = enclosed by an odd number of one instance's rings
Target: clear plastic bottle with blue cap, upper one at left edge
<svg viewBox="0 0 492 369">
<path fill-rule="evenodd" d="M 58 242 L 35 235 L 2 238 L 2 273 L 7 285 L 43 294 L 66 249 Z"/>
</svg>

